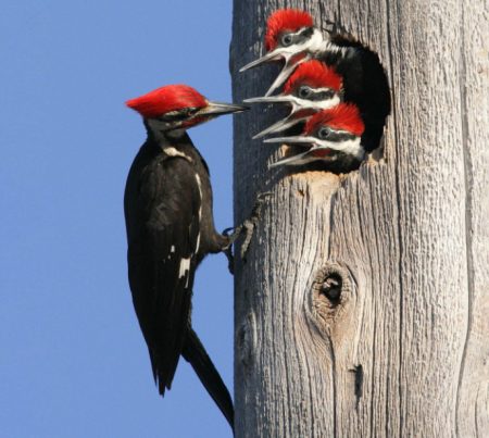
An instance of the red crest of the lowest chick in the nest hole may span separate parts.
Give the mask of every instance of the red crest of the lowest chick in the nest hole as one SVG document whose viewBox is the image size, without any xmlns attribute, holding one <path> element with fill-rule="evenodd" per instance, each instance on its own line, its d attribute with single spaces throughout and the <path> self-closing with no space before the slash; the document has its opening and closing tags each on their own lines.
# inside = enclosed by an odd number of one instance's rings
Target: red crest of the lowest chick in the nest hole
<svg viewBox="0 0 489 438">
<path fill-rule="evenodd" d="M 365 129 L 359 109 L 352 103 L 340 103 L 334 108 L 316 113 L 306 123 L 304 134 L 313 134 L 319 126 L 347 130 L 358 137 Z"/>
</svg>

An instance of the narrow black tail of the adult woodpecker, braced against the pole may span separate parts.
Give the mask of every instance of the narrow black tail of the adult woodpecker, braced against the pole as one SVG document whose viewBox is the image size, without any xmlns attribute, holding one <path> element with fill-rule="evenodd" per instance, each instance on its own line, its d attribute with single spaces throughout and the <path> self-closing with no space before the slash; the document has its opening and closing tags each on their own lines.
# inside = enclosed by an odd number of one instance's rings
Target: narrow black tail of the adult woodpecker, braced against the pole
<svg viewBox="0 0 489 438">
<path fill-rule="evenodd" d="M 234 430 L 235 409 L 233 406 L 233 399 L 230 398 L 229 391 L 221 378 L 218 371 L 215 368 L 211 358 L 206 353 L 204 346 L 191 327 L 188 329 L 181 355 L 190 363 L 190 365 L 192 365 L 200 381 Z"/>
</svg>

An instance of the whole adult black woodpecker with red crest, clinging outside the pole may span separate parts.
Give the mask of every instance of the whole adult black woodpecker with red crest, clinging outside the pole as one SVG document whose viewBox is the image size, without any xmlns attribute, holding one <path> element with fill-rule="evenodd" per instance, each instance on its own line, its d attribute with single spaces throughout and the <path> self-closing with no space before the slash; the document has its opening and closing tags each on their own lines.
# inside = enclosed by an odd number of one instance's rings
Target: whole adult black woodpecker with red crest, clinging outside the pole
<svg viewBox="0 0 489 438">
<path fill-rule="evenodd" d="M 129 285 L 153 376 L 163 396 L 181 354 L 233 427 L 229 392 L 190 323 L 197 266 L 231 240 L 215 230 L 209 168 L 186 129 L 246 107 L 211 102 L 185 85 L 126 104 L 148 132 L 127 177 L 124 210 Z"/>
</svg>

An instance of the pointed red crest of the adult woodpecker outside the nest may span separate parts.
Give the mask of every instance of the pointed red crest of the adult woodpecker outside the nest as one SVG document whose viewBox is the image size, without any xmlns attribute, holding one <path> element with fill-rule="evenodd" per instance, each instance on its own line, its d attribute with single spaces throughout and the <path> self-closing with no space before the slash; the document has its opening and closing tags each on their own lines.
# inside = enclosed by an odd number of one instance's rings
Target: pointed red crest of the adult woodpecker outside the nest
<svg viewBox="0 0 489 438">
<path fill-rule="evenodd" d="M 205 98 L 188 85 L 166 85 L 139 98 L 130 99 L 126 105 L 146 118 L 158 117 L 184 108 L 204 108 Z"/>
</svg>

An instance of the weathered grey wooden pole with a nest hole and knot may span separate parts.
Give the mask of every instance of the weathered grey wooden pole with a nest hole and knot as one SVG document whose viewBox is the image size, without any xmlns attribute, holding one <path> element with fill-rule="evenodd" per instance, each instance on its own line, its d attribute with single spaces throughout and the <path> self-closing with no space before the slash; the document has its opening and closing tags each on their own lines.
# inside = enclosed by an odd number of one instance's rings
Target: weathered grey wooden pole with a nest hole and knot
<svg viewBox="0 0 489 438">
<path fill-rule="evenodd" d="M 278 72 L 266 17 L 305 9 L 376 50 L 392 113 L 356 172 L 267 170 L 235 118 L 235 214 L 271 190 L 236 268 L 237 437 L 489 437 L 489 62 L 486 0 L 235 0 L 235 101 Z"/>
</svg>

